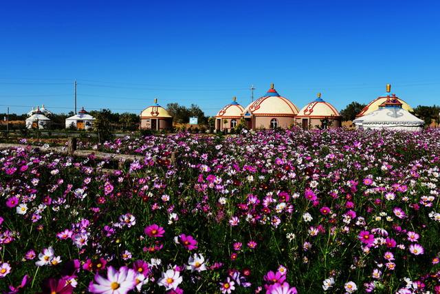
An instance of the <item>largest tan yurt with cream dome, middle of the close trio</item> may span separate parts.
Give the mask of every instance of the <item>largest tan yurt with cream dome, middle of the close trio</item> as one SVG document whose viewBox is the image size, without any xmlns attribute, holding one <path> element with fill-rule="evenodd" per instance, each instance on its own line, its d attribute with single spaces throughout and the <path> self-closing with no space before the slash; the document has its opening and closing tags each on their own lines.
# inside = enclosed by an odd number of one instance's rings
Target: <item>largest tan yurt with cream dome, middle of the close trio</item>
<svg viewBox="0 0 440 294">
<path fill-rule="evenodd" d="M 287 128 L 295 123 L 298 112 L 298 107 L 278 94 L 272 84 L 264 96 L 244 109 L 243 118 L 250 129 Z"/>
</svg>

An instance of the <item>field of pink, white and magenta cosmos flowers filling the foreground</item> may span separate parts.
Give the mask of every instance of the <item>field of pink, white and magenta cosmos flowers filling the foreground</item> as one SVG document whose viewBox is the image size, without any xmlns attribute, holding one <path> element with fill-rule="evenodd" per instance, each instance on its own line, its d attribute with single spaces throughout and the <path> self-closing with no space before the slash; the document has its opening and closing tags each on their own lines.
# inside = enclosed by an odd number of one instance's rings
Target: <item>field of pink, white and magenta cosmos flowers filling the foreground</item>
<svg viewBox="0 0 440 294">
<path fill-rule="evenodd" d="M 142 159 L 1 151 L 0 291 L 440 293 L 439 130 L 100 149 Z"/>
</svg>

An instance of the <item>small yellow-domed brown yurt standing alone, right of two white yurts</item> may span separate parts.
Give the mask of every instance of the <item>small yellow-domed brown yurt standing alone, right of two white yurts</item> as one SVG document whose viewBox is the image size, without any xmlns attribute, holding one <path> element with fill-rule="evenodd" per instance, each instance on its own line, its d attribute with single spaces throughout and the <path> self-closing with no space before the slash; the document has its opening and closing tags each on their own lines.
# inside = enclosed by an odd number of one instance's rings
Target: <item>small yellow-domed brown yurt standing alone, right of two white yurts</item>
<svg viewBox="0 0 440 294">
<path fill-rule="evenodd" d="M 157 99 L 154 99 L 154 104 L 146 107 L 140 113 L 140 129 L 152 129 L 159 131 L 159 129 L 172 129 L 173 116 L 170 116 L 166 109 L 157 104 Z"/>
</svg>

